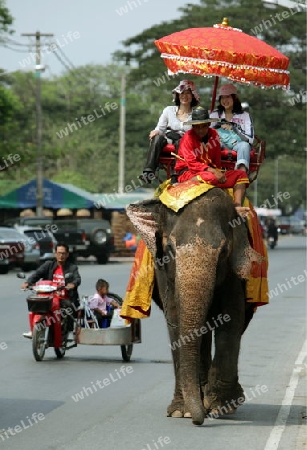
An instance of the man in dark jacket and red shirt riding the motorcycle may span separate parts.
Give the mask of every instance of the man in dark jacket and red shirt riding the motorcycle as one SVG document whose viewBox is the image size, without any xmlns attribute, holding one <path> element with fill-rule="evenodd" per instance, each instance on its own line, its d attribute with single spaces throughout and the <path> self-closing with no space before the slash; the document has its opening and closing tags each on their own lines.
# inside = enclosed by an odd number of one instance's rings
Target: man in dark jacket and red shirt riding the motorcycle
<svg viewBox="0 0 307 450">
<path fill-rule="evenodd" d="M 76 315 L 79 306 L 78 286 L 81 284 L 81 277 L 78 267 L 68 261 L 69 248 L 66 244 L 58 242 L 55 247 L 55 260 L 46 261 L 40 266 L 25 283 L 21 289 L 27 289 L 29 285 L 36 283 L 38 280 L 50 280 L 57 286 L 63 286 L 61 290 L 61 307 L 73 310 Z M 73 306 L 73 308 L 71 308 Z M 29 313 L 30 329 L 33 328 L 32 313 Z M 74 321 L 73 317 L 68 315 L 68 340 L 73 340 Z M 23 333 L 23 336 L 32 339 L 32 331 Z"/>
</svg>

